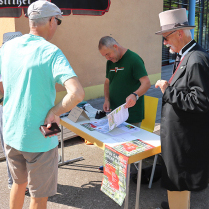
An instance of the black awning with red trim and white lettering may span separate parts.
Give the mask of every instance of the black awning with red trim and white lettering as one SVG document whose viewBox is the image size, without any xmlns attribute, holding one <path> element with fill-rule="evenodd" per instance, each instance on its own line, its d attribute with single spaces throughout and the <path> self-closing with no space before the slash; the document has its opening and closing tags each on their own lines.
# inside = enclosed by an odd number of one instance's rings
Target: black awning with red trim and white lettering
<svg viewBox="0 0 209 209">
<path fill-rule="evenodd" d="M 20 17 L 22 11 L 27 14 L 28 6 L 36 0 L 2 0 L 0 17 Z M 63 15 L 104 15 L 110 7 L 110 0 L 51 0 L 63 12 Z"/>
</svg>

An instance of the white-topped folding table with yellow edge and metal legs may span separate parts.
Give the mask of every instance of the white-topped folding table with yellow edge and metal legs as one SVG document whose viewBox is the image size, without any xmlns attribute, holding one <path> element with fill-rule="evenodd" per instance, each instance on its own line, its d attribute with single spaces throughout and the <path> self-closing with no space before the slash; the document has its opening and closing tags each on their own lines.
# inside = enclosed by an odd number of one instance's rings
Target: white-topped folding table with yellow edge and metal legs
<svg viewBox="0 0 209 209">
<path fill-rule="evenodd" d="M 95 120 L 95 119 L 91 119 Z M 78 121 L 74 123 L 67 117 L 61 118 L 60 124 L 69 130 L 73 131 L 77 135 L 94 143 L 94 145 L 98 146 L 101 149 L 105 147 L 105 141 L 110 137 L 107 134 L 102 134 L 98 131 L 90 131 L 87 128 L 81 126 L 83 123 L 89 123 L 90 121 L 86 118 L 80 116 Z M 161 153 L 161 145 L 160 145 L 160 136 L 145 131 L 143 129 L 139 129 L 138 132 L 134 132 L 133 135 L 136 139 L 140 139 L 146 143 L 149 143 L 154 146 L 154 148 L 149 149 L 147 151 L 132 155 L 129 157 L 128 166 L 127 166 L 127 176 L 126 176 L 126 198 L 124 208 L 128 209 L 128 200 L 129 200 L 129 181 L 130 181 L 130 164 L 134 162 L 139 162 L 139 171 L 138 171 L 138 181 L 137 181 L 137 190 L 136 190 L 136 204 L 135 209 L 139 209 L 139 195 L 140 195 L 140 184 L 141 184 L 141 169 L 142 169 L 142 160 L 150 157 L 152 155 L 156 155 Z"/>
</svg>

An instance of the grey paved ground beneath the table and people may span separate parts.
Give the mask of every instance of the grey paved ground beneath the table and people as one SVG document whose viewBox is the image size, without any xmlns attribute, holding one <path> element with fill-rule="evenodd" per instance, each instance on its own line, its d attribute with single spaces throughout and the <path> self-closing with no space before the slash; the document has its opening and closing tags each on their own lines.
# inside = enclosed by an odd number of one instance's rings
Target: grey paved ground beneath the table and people
<svg viewBox="0 0 209 209">
<path fill-rule="evenodd" d="M 60 151 L 60 148 L 59 148 Z M 103 163 L 103 150 L 94 145 L 86 145 L 80 137 L 65 141 L 65 160 L 83 156 L 84 160 L 59 167 L 58 192 L 48 200 L 48 209 L 122 209 L 100 191 L 102 176 L 98 167 Z M 143 161 L 143 167 L 151 165 L 153 158 Z M 0 162 L 0 209 L 9 208 L 9 189 L 7 188 L 6 162 Z M 136 184 L 130 181 L 129 209 L 134 209 Z M 209 188 L 193 192 L 191 209 L 209 208 Z M 166 200 L 166 191 L 160 181 L 152 188 L 141 185 L 140 209 L 161 208 Z M 30 197 L 25 197 L 23 209 L 29 208 Z"/>
</svg>

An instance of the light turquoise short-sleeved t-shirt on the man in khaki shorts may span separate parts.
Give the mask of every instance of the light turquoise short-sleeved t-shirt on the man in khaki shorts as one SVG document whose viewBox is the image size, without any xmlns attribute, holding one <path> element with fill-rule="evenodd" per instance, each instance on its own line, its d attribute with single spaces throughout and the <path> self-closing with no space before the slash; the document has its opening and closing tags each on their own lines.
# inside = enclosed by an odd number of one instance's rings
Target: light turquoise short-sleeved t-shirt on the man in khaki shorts
<svg viewBox="0 0 209 209">
<path fill-rule="evenodd" d="M 55 83 L 74 76 L 62 51 L 40 36 L 26 34 L 0 50 L 4 86 L 3 135 L 6 144 L 25 152 L 46 152 L 58 145 L 57 136 L 39 131 L 54 106 Z"/>
</svg>

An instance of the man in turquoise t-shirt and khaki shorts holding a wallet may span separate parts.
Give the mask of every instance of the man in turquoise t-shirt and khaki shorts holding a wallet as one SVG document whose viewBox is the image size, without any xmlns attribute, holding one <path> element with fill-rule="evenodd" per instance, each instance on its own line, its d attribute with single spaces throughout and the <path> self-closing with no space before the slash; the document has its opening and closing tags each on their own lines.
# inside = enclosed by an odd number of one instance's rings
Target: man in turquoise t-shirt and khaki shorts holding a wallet
<svg viewBox="0 0 209 209">
<path fill-rule="evenodd" d="M 10 208 L 22 208 L 25 188 L 30 208 L 47 207 L 57 192 L 58 139 L 45 138 L 40 125 L 59 124 L 60 114 L 84 98 L 84 90 L 62 51 L 48 42 L 62 18 L 60 9 L 48 1 L 28 8 L 30 33 L 8 41 L 0 50 L 0 74 L 4 85 L 3 135 L 14 183 Z M 55 83 L 67 90 L 54 106 Z"/>
</svg>

